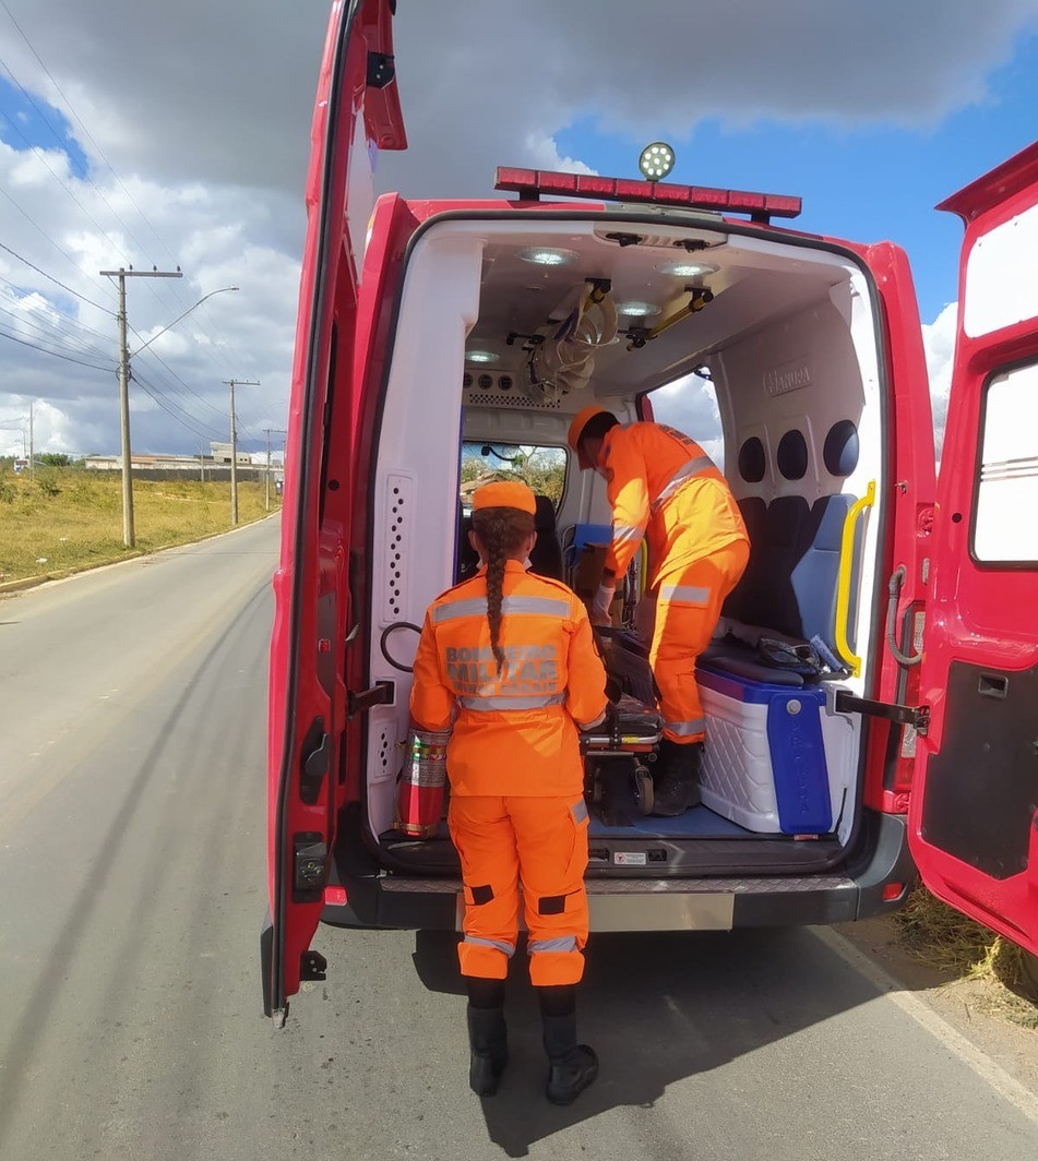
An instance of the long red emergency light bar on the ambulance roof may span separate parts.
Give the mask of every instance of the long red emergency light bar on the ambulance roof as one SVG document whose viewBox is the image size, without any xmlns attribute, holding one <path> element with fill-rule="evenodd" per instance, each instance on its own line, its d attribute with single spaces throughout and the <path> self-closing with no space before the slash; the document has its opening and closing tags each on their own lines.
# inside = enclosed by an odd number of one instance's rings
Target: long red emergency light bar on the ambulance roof
<svg viewBox="0 0 1038 1161">
<path fill-rule="evenodd" d="M 772 217 L 798 217 L 803 201 L 786 194 L 754 194 L 741 189 L 714 189 L 712 186 L 677 186 L 669 181 L 632 181 L 627 178 L 599 178 L 585 173 L 553 173 L 548 170 L 514 170 L 499 165 L 493 188 L 514 190 L 525 201 L 541 194 L 565 197 L 596 197 L 613 202 L 646 202 L 676 209 L 749 214 L 755 222 Z"/>
</svg>

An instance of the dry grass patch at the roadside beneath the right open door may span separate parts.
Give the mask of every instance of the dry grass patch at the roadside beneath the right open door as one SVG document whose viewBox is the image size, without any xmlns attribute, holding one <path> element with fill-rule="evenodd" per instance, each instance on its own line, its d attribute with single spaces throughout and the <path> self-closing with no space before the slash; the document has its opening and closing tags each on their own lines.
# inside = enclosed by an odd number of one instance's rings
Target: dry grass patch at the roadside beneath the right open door
<svg viewBox="0 0 1038 1161">
<path fill-rule="evenodd" d="M 1036 966 L 1023 949 L 942 903 L 922 885 L 894 918 L 901 942 L 915 959 L 987 985 L 978 1002 L 981 1011 L 1038 1029 Z"/>
</svg>

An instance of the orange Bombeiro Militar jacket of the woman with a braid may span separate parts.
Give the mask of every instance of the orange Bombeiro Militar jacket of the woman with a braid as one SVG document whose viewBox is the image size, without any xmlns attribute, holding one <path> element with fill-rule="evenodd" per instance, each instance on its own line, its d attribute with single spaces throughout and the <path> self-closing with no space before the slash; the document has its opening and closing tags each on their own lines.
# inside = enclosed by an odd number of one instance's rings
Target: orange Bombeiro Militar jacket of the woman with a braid
<svg viewBox="0 0 1038 1161">
<path fill-rule="evenodd" d="M 505 565 L 497 676 L 486 572 L 430 605 L 415 657 L 411 717 L 445 730 L 453 794 L 572 795 L 584 787 L 578 727 L 606 707 L 605 668 L 588 613 L 557 580 Z"/>
</svg>

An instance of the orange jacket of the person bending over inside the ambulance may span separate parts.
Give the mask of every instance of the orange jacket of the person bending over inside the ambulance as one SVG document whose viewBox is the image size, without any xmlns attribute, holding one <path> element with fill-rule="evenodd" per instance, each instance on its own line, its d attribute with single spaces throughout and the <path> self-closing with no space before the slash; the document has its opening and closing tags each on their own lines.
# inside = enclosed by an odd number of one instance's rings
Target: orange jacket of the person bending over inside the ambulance
<svg viewBox="0 0 1038 1161">
<path fill-rule="evenodd" d="M 673 427 L 637 423 L 603 440 L 613 542 L 605 567 L 621 577 L 644 535 L 655 584 L 735 540 L 749 540 L 728 482 L 695 442 Z"/>
</svg>

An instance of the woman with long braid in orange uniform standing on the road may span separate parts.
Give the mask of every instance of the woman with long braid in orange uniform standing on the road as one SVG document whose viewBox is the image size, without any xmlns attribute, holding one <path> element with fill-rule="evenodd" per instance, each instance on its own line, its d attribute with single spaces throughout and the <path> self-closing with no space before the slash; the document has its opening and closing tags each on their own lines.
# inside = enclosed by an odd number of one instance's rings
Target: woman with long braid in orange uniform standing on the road
<svg viewBox="0 0 1038 1161">
<path fill-rule="evenodd" d="M 583 604 L 527 571 L 535 507 L 521 483 L 474 493 L 469 535 L 480 570 L 426 613 L 411 717 L 417 729 L 450 730 L 447 822 L 464 886 L 459 958 L 469 994 L 469 1083 L 490 1096 L 507 1062 L 504 990 L 521 882 L 549 1060 L 546 1095 L 569 1104 L 598 1072 L 576 1033 L 588 940 L 578 731 L 600 723 L 608 702 Z"/>
</svg>

